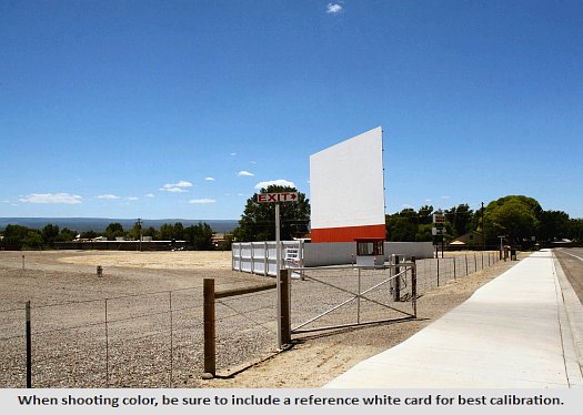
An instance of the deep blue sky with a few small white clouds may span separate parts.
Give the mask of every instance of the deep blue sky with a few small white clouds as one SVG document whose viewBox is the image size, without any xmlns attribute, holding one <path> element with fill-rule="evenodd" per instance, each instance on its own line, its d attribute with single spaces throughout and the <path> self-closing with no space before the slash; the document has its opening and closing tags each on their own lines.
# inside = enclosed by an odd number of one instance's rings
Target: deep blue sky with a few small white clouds
<svg viewBox="0 0 583 415">
<path fill-rule="evenodd" d="M 583 217 L 581 1 L 0 0 L 0 216 L 239 219 L 383 126 L 386 213 Z"/>
</svg>

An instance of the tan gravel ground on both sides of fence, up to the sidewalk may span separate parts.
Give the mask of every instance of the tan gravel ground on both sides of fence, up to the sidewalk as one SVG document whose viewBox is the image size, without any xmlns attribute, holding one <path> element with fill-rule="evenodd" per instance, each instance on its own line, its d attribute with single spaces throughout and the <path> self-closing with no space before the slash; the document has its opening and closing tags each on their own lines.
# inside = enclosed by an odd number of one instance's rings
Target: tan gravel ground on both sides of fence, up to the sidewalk
<svg viewBox="0 0 583 415">
<path fill-rule="evenodd" d="M 219 377 L 202 381 L 203 279 L 213 277 L 218 291 L 272 281 L 231 271 L 230 252 L 0 252 L 0 385 L 26 385 L 24 303 L 30 301 L 36 387 L 319 387 L 402 342 L 514 264 L 494 264 L 492 254 L 445 255 L 439 287 L 436 260 L 418 263 L 418 320 L 298 334 L 283 353 L 277 351 L 274 290 L 218 300 Z M 473 272 L 482 263 L 484 270 Z M 292 280 L 292 327 L 359 289 L 353 270 L 312 275 L 344 291 Z M 385 277 L 362 272 L 361 292 Z M 391 302 L 386 283 L 366 296 L 304 328 L 412 313 L 411 301 Z"/>
</svg>

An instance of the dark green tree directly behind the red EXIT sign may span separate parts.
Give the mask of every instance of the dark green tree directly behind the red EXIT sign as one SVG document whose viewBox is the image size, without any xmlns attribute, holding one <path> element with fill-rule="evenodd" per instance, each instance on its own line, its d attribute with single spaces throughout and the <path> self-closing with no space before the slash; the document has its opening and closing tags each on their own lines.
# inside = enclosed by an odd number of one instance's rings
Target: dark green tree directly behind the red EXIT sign
<svg viewBox="0 0 583 415">
<path fill-rule="evenodd" d="M 296 192 L 295 188 L 270 185 L 261 189 L 261 193 Z M 233 239 L 240 242 L 275 240 L 275 204 L 259 203 L 258 193 L 247 200 L 245 209 L 233 231 Z M 285 202 L 280 205 L 281 240 L 291 240 L 308 232 L 310 222 L 310 203 L 305 194 L 299 192 L 296 202 Z"/>
</svg>

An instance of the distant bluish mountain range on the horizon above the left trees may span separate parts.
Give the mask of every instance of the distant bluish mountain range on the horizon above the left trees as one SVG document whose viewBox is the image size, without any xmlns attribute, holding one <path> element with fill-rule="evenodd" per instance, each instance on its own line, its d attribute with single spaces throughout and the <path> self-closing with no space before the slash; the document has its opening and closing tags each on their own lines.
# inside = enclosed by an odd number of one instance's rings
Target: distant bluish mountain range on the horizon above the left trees
<svg viewBox="0 0 583 415">
<path fill-rule="evenodd" d="M 49 223 L 59 226 L 60 229 L 68 227 L 71 231 L 86 232 L 103 232 L 110 223 L 121 223 L 124 230 L 131 230 L 135 224 L 137 219 L 108 219 L 108 217 L 0 217 L 0 231 L 3 231 L 7 225 L 21 225 L 30 229 L 43 229 Z M 181 222 L 184 227 L 195 225 L 199 223 L 208 223 L 214 232 L 227 233 L 232 232 L 238 225 L 238 220 L 191 220 L 191 219 L 143 219 L 142 226 L 160 229 L 164 223 L 174 224 Z"/>
</svg>

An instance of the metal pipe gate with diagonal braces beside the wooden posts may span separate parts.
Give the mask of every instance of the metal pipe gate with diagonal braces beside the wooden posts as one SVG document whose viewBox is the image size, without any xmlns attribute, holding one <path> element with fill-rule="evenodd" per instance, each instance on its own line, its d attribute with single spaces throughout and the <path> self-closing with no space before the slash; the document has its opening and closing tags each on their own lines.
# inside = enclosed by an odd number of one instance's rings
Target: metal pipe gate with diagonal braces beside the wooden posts
<svg viewBox="0 0 583 415">
<path fill-rule="evenodd" d="M 290 270 L 291 334 L 416 318 L 415 262 Z"/>
</svg>

